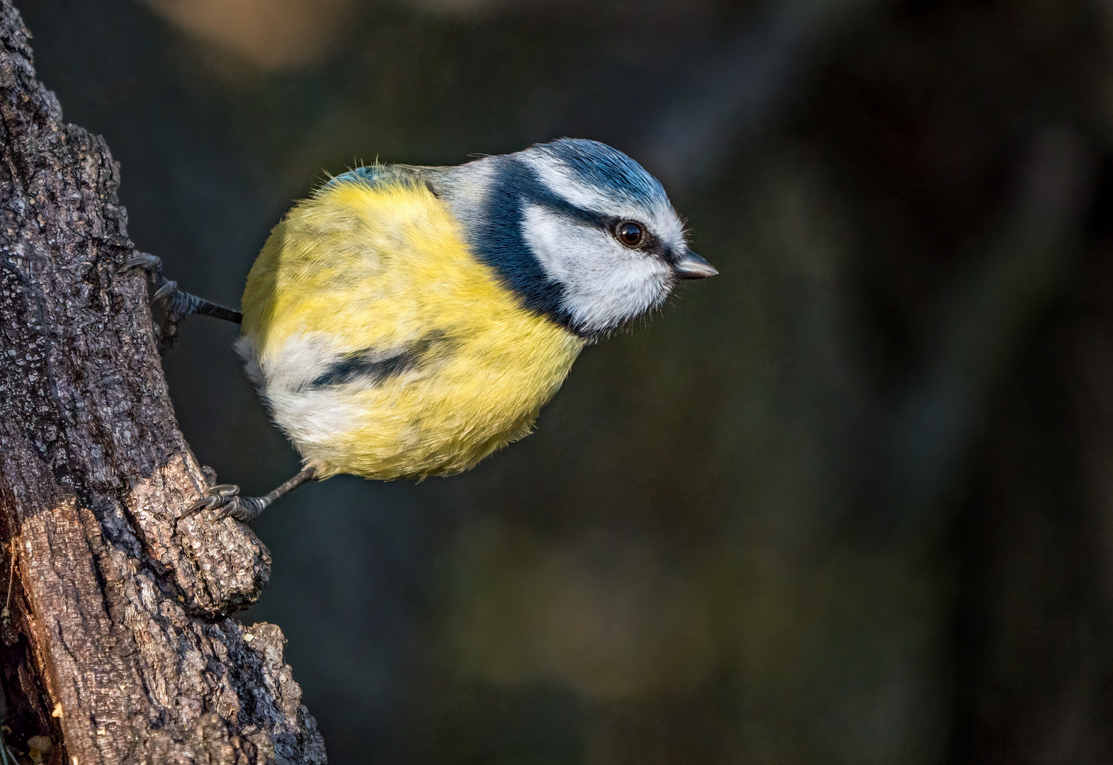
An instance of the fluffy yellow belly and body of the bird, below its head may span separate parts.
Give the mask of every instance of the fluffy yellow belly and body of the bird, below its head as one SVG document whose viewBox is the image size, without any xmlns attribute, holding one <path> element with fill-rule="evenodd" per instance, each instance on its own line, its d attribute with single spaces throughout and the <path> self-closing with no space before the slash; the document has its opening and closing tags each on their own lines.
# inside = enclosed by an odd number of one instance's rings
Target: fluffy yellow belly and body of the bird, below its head
<svg viewBox="0 0 1113 765">
<path fill-rule="evenodd" d="M 422 478 L 525 435 L 583 340 L 523 310 L 424 186 L 326 186 L 272 232 L 239 349 L 323 477 Z"/>
</svg>

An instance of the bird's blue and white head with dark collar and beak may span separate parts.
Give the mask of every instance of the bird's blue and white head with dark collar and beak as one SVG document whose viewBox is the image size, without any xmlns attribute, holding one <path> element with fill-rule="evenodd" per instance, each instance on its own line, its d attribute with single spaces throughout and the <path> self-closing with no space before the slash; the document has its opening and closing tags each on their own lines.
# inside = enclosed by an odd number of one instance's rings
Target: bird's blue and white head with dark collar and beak
<svg viewBox="0 0 1113 765">
<path fill-rule="evenodd" d="M 584 337 L 661 305 L 678 279 L 718 273 L 688 248 L 661 184 L 598 141 L 483 157 L 431 185 L 528 307 Z"/>
</svg>

